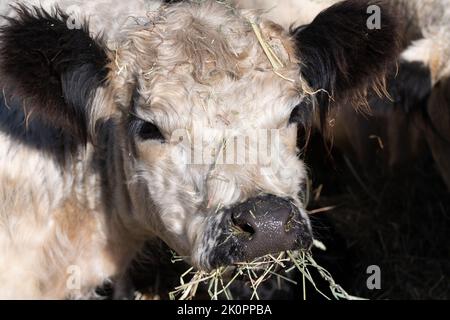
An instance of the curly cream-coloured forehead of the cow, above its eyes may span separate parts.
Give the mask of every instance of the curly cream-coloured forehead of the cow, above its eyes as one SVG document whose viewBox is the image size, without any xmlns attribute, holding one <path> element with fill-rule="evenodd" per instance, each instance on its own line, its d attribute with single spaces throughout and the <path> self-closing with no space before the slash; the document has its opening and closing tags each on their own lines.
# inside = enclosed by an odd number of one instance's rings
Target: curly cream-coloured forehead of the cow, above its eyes
<svg viewBox="0 0 450 320">
<path fill-rule="evenodd" d="M 131 34 L 122 56 L 138 75 L 134 112 L 165 131 L 193 122 L 277 127 L 305 93 L 287 32 L 215 2 L 196 9 L 168 10 Z"/>
</svg>

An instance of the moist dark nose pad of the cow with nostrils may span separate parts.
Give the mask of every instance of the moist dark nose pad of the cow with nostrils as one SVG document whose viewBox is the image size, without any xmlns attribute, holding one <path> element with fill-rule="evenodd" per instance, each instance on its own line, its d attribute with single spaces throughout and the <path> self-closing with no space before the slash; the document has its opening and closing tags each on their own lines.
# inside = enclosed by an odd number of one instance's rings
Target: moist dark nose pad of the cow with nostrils
<svg viewBox="0 0 450 320">
<path fill-rule="evenodd" d="M 287 199 L 273 195 L 249 199 L 231 208 L 231 220 L 245 259 L 312 245 L 308 218 Z"/>
</svg>

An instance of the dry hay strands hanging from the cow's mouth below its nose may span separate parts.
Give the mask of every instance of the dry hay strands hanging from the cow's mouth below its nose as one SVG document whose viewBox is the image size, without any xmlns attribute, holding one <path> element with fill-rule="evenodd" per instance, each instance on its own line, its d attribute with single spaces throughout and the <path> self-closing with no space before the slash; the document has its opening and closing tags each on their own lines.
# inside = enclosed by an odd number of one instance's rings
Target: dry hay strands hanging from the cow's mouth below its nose
<svg viewBox="0 0 450 320">
<path fill-rule="evenodd" d="M 315 240 L 314 246 L 320 250 L 326 250 L 320 241 Z M 294 270 L 300 273 L 300 279 L 293 278 Z M 315 270 L 326 281 L 329 293 L 324 293 L 318 288 L 310 270 Z M 277 281 L 278 288 L 281 288 L 283 283 L 293 285 L 299 285 L 300 283 L 302 285 L 302 296 L 300 298 L 304 300 L 308 297 L 308 282 L 316 292 L 327 300 L 361 299 L 348 294 L 337 284 L 331 274 L 314 260 L 309 251 L 285 251 L 278 255 L 269 254 L 250 262 L 236 263 L 233 266 L 218 268 L 211 272 L 196 271 L 190 268 L 181 275 L 180 285 L 169 293 L 169 297 L 172 300 L 192 300 L 197 297 L 199 287 L 204 285 L 210 299 L 232 300 L 234 298 L 232 284 L 236 283 L 237 280 L 244 280 L 251 290 L 250 299 L 259 300 L 258 289 L 271 278 Z"/>
</svg>

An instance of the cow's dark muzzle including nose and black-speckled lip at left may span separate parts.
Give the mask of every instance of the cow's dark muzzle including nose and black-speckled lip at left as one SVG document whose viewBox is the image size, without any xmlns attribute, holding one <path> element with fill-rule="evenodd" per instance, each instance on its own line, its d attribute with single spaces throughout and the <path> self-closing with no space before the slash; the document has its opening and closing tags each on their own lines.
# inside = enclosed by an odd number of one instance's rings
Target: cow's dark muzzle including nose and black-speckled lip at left
<svg viewBox="0 0 450 320">
<path fill-rule="evenodd" d="M 309 219 L 292 201 L 273 195 L 249 199 L 225 209 L 205 241 L 208 269 L 286 250 L 309 249 L 313 242 Z"/>
</svg>

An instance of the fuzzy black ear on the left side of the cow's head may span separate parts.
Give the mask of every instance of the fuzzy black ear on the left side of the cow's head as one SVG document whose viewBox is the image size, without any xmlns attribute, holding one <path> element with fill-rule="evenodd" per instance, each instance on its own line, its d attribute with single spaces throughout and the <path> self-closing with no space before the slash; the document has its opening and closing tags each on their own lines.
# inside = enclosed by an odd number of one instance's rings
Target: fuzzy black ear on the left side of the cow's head
<svg viewBox="0 0 450 320">
<path fill-rule="evenodd" d="M 72 28 L 55 8 L 18 6 L 15 18 L 0 29 L 0 84 L 32 115 L 88 139 L 90 108 L 96 89 L 105 84 L 108 57 L 87 24 Z"/>
</svg>

